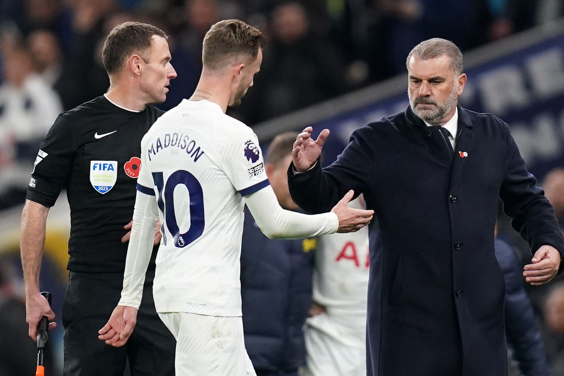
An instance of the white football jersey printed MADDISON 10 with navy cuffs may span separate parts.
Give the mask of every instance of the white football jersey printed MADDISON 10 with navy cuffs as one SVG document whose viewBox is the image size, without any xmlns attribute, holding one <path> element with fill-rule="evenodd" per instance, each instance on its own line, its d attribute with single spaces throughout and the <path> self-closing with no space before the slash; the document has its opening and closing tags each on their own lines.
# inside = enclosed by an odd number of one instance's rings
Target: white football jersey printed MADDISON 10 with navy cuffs
<svg viewBox="0 0 564 376">
<path fill-rule="evenodd" d="M 210 101 L 184 99 L 141 141 L 139 191 L 162 224 L 157 312 L 241 316 L 243 196 L 268 185 L 257 136 Z"/>
</svg>

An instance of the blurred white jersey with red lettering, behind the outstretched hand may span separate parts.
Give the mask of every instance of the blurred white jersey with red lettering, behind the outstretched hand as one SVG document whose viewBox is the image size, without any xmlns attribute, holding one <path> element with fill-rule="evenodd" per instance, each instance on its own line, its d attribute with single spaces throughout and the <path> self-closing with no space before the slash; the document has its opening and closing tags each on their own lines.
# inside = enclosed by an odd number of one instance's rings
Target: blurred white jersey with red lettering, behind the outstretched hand
<svg viewBox="0 0 564 376">
<path fill-rule="evenodd" d="M 362 196 L 349 203 L 365 209 Z M 351 233 L 319 237 L 313 271 L 313 298 L 328 308 L 366 312 L 368 291 L 368 226 Z"/>
</svg>

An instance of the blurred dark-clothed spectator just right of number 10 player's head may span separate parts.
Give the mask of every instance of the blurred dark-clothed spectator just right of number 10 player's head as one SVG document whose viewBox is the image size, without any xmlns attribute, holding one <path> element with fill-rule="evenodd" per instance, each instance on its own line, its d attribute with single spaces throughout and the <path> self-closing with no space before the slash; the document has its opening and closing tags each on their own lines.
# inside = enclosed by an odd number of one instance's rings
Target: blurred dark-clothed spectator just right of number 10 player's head
<svg viewBox="0 0 564 376">
<path fill-rule="evenodd" d="M 298 2 L 282 3 L 272 11 L 261 72 L 240 107 L 244 120 L 279 116 L 343 91 L 341 58 L 310 27 L 310 16 Z"/>
</svg>

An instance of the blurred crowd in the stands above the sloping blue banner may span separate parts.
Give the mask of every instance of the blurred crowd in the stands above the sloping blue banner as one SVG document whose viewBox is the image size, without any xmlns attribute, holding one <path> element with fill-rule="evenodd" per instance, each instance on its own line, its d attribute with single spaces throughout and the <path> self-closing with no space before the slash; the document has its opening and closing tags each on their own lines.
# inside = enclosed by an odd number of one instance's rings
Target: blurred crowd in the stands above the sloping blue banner
<svg viewBox="0 0 564 376">
<path fill-rule="evenodd" d="M 403 73 L 405 56 L 424 39 L 451 39 L 465 51 L 556 19 L 564 5 L 559 0 L 0 0 L 0 9 L 2 170 L 14 161 L 29 165 L 61 110 L 107 90 L 100 52 L 105 36 L 122 21 L 155 24 L 170 36 L 178 78 L 163 109 L 195 88 L 201 42 L 211 24 L 238 18 L 258 25 L 268 39 L 261 73 L 243 105 L 230 113 L 253 125 Z M 10 174 L 15 180 L 20 176 Z M 17 192 L 0 195 L 8 198 L 0 207 L 21 201 Z"/>
</svg>

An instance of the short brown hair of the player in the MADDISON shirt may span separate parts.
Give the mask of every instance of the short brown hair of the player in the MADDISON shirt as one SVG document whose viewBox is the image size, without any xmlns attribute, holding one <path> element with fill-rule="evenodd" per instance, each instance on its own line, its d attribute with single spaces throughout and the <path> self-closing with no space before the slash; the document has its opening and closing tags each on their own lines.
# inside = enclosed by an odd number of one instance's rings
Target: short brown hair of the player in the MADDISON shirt
<svg viewBox="0 0 564 376">
<path fill-rule="evenodd" d="M 211 26 L 204 37 L 202 63 L 221 70 L 240 57 L 257 59 L 258 49 L 266 45 L 261 30 L 240 20 L 223 20 Z"/>
</svg>

